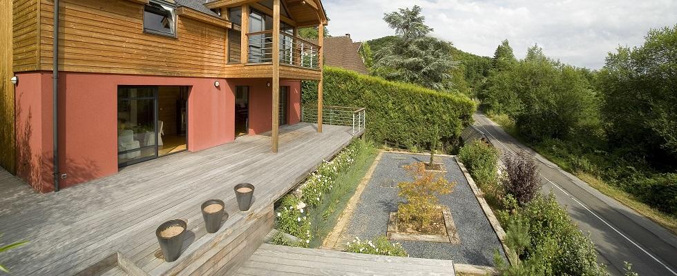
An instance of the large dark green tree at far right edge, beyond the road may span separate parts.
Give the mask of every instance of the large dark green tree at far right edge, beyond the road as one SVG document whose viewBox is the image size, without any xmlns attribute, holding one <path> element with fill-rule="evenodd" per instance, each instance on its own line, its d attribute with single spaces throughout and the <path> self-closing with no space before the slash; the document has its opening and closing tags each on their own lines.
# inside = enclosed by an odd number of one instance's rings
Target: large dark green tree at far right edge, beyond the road
<svg viewBox="0 0 677 276">
<path fill-rule="evenodd" d="M 650 30 L 640 47 L 610 53 L 600 84 L 610 144 L 654 164 L 676 164 L 677 25 Z"/>
</svg>

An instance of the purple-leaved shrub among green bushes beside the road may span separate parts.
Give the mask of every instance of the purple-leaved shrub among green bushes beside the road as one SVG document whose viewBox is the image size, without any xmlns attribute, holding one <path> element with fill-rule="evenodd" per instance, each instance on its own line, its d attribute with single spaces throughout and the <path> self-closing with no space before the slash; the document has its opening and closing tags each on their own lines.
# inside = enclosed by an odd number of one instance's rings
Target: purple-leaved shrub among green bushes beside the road
<svg viewBox="0 0 677 276">
<path fill-rule="evenodd" d="M 501 179 L 506 194 L 517 199 L 519 206 L 526 205 L 539 195 L 541 181 L 538 177 L 536 163 L 527 152 L 506 156 L 503 159 L 506 173 Z"/>
</svg>

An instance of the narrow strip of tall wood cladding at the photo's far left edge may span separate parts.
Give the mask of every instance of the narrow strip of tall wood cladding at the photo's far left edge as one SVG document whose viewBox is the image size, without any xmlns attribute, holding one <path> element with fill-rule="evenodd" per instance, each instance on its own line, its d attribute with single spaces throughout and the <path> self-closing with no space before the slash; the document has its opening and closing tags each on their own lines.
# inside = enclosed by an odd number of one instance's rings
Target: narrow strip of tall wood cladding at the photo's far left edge
<svg viewBox="0 0 677 276">
<path fill-rule="evenodd" d="M 17 1 L 14 3 L 16 4 Z M 12 2 L 0 2 L 0 167 L 15 172 L 15 97 L 12 78 Z"/>
</svg>

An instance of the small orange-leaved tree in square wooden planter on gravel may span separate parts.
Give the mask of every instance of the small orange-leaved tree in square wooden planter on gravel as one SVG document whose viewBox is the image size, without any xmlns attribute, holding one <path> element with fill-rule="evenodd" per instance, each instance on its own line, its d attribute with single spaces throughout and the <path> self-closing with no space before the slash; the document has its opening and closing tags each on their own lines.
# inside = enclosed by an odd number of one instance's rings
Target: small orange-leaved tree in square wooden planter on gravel
<svg viewBox="0 0 677 276">
<path fill-rule="evenodd" d="M 437 172 L 426 170 L 423 162 L 405 167 L 408 175 L 414 178 L 410 182 L 400 182 L 398 195 L 407 202 L 397 208 L 397 219 L 416 230 L 426 233 L 432 230 L 432 219 L 439 213 L 439 195 L 448 195 L 456 182 L 449 182 Z"/>
</svg>

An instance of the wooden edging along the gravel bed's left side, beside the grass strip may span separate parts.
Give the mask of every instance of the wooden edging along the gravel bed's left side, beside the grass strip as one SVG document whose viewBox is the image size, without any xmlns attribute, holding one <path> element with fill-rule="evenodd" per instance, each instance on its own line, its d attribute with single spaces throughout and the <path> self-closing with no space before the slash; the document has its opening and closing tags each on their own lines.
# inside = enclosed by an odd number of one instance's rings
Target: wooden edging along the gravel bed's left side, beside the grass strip
<svg viewBox="0 0 677 276">
<path fill-rule="evenodd" d="M 325 240 L 322 242 L 322 246 L 320 246 L 320 248 L 336 249 L 336 246 L 338 246 L 338 239 L 341 239 L 341 233 L 343 233 L 343 229 L 348 224 L 348 220 L 350 219 L 350 217 L 352 217 L 352 213 L 354 212 L 357 206 L 357 202 L 360 200 L 360 197 L 362 196 L 364 189 L 366 188 L 369 181 L 372 179 L 372 175 L 374 175 L 374 170 L 376 170 L 376 165 L 379 164 L 379 161 L 381 161 L 381 157 L 383 157 L 383 152 L 384 152 L 383 150 L 380 150 L 379 155 L 376 155 L 376 158 L 374 158 L 372 166 L 369 167 L 367 173 L 364 175 L 364 177 L 362 177 L 360 184 L 358 184 L 357 188 L 355 189 L 355 193 L 348 200 L 348 203 L 345 205 L 345 208 L 343 208 L 343 212 L 341 212 L 341 215 L 338 215 L 338 221 L 336 221 L 336 226 L 334 226 L 334 230 L 332 230 L 332 232 L 330 232 L 327 235 L 327 237 L 325 237 Z"/>
</svg>

